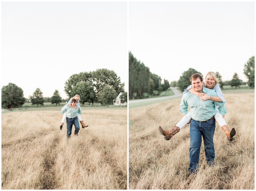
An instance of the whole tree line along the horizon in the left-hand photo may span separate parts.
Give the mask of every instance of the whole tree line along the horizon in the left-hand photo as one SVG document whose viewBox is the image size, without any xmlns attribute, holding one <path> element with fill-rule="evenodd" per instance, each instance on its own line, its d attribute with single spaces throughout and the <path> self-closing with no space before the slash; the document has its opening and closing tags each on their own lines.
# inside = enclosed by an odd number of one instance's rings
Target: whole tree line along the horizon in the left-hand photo
<svg viewBox="0 0 256 191">
<path fill-rule="evenodd" d="M 127 92 L 124 92 L 124 83 L 113 70 L 97 69 L 93 72 L 81 72 L 73 74 L 65 82 L 64 91 L 67 96 L 72 98 L 76 94 L 80 95 L 80 102 L 101 104 L 113 104 L 113 100 L 122 92 L 121 103 L 127 102 Z M 52 104 L 59 104 L 63 101 L 58 90 L 53 92 L 51 98 L 44 98 L 43 92 L 37 88 L 32 96 L 29 96 L 32 105 L 44 105 L 45 101 Z M 26 101 L 23 90 L 13 83 L 2 87 L 2 107 L 12 108 L 23 105 Z"/>
</svg>

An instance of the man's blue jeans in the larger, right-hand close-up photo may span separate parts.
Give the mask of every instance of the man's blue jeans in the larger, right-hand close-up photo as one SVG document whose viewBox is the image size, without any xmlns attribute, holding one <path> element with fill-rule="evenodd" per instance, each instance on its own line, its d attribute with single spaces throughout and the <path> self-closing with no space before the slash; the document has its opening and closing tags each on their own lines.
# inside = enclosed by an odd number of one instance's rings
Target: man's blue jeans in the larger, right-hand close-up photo
<svg viewBox="0 0 256 191">
<path fill-rule="evenodd" d="M 189 149 L 189 172 L 196 173 L 199 162 L 202 135 L 204 140 L 204 151 L 208 165 L 214 165 L 213 135 L 215 131 L 215 119 L 207 122 L 199 122 L 194 119 L 190 122 L 190 149 Z"/>
</svg>

